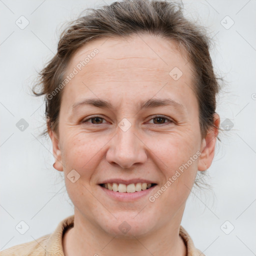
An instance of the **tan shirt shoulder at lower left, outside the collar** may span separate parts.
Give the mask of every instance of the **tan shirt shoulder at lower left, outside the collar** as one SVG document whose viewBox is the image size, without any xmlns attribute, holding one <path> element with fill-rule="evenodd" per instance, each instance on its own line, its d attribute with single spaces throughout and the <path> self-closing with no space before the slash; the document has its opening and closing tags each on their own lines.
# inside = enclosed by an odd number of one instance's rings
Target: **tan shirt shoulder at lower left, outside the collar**
<svg viewBox="0 0 256 256">
<path fill-rule="evenodd" d="M 14 245 L 0 251 L 0 256 L 44 256 L 46 241 L 48 240 L 49 236 L 50 234 L 46 234 L 36 240 Z"/>
</svg>

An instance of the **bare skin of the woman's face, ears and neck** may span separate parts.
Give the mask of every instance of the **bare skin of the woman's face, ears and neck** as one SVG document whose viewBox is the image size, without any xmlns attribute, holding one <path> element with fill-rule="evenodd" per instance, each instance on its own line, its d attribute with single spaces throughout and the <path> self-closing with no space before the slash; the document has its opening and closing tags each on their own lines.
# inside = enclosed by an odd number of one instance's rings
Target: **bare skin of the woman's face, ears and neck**
<svg viewBox="0 0 256 256">
<path fill-rule="evenodd" d="M 205 137 L 199 129 L 199 110 L 192 66 L 174 42 L 148 34 L 96 39 L 78 49 L 66 73 L 94 48 L 99 50 L 64 87 L 58 130 L 48 128 L 54 167 L 64 171 L 66 189 L 74 204 L 74 227 L 63 237 L 65 255 L 186 255 L 179 226 L 197 170 L 207 169 L 214 156 L 218 130 Z M 174 80 L 173 67 L 182 71 Z M 96 97 L 113 109 L 72 106 Z M 138 110 L 147 99 L 170 98 L 183 105 Z M 154 114 L 168 119 L 153 119 Z M 89 119 L 90 117 L 103 119 Z M 163 117 L 163 118 L 165 118 Z M 118 123 L 126 118 L 125 132 Z M 88 120 L 87 120 L 88 119 Z M 86 121 L 85 121 L 86 120 Z M 83 121 L 83 122 L 82 122 Z M 219 116 L 214 115 L 219 126 Z M 148 200 L 197 151 L 200 156 L 157 198 Z M 75 169 L 80 177 L 70 182 Z M 157 185 L 136 201 L 110 198 L 98 185 L 106 178 L 143 177 Z M 130 225 L 124 234 L 118 226 Z"/>
</svg>

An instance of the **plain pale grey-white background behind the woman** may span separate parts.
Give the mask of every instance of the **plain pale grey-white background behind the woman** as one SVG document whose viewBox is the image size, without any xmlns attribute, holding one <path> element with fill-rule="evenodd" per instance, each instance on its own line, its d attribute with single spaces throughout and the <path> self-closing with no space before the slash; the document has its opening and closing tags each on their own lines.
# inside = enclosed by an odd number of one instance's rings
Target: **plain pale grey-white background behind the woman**
<svg viewBox="0 0 256 256">
<path fill-rule="evenodd" d="M 50 141 L 38 136 L 43 99 L 29 87 L 55 53 L 60 25 L 110 2 L 0 0 L 0 250 L 51 233 L 73 214 L 61 173 L 52 167 Z M 213 64 L 226 81 L 217 112 L 221 123 L 228 118 L 234 125 L 220 133 L 207 180 L 213 188 L 192 190 L 181 224 L 208 256 L 256 255 L 256 1 L 183 2 L 186 15 L 211 32 Z M 15 24 L 21 15 L 29 21 L 24 29 Z M 21 118 L 29 124 L 23 131 L 16 127 Z M 15 229 L 21 220 L 29 226 L 23 235 Z"/>
</svg>

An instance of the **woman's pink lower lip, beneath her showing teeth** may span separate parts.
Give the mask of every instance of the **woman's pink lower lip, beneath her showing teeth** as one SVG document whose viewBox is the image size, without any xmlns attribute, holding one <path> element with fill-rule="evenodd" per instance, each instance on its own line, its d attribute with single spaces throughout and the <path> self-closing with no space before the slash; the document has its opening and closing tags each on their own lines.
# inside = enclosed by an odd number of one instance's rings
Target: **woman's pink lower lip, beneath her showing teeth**
<svg viewBox="0 0 256 256">
<path fill-rule="evenodd" d="M 119 201 L 134 201 L 134 200 L 138 200 L 140 198 L 142 198 L 143 196 L 148 195 L 155 187 L 151 186 L 145 190 L 141 190 L 141 191 L 137 191 L 137 192 L 133 192 L 133 193 L 127 193 L 127 192 L 115 192 L 113 190 L 109 190 L 105 187 L 102 187 L 99 185 L 99 187 L 110 197 L 117 199 Z"/>
</svg>

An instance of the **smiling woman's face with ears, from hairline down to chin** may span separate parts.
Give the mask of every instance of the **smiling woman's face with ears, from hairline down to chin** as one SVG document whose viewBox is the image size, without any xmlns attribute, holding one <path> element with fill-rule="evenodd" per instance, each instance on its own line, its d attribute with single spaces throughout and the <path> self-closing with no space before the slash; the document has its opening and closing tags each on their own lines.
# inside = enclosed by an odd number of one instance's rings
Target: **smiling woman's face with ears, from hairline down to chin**
<svg viewBox="0 0 256 256">
<path fill-rule="evenodd" d="M 72 56 L 50 136 L 77 219 L 114 235 L 179 226 L 216 135 L 201 137 L 192 72 L 174 43 L 146 34 L 97 39 Z M 119 192 L 106 182 L 155 185 Z"/>
</svg>

